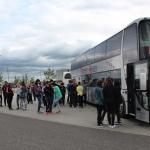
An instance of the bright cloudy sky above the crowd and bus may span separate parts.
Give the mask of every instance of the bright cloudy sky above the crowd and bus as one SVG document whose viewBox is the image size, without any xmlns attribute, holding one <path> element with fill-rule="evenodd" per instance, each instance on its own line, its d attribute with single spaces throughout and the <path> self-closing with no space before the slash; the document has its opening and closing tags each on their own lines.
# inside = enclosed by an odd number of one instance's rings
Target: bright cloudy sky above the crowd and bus
<svg viewBox="0 0 150 150">
<path fill-rule="evenodd" d="M 0 72 L 39 77 L 149 17 L 149 0 L 0 0 Z M 9 74 L 8 74 L 9 73 Z"/>
</svg>

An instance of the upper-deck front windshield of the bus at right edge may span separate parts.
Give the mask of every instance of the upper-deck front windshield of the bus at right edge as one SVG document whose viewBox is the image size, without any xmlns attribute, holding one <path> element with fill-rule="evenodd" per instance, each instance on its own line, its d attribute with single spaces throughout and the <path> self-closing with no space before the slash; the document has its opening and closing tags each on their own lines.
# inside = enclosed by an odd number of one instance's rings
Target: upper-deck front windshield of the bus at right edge
<svg viewBox="0 0 150 150">
<path fill-rule="evenodd" d="M 150 20 L 141 21 L 139 24 L 140 59 L 150 56 Z"/>
</svg>

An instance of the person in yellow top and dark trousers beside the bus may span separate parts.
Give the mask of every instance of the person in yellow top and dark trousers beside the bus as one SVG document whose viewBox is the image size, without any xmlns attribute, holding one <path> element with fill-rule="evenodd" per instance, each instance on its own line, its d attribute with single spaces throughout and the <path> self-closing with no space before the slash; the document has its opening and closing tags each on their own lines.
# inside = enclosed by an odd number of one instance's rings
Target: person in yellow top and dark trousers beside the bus
<svg viewBox="0 0 150 150">
<path fill-rule="evenodd" d="M 81 85 L 81 82 L 78 82 L 78 86 L 76 90 L 77 90 L 79 106 L 83 108 L 83 86 Z"/>
</svg>

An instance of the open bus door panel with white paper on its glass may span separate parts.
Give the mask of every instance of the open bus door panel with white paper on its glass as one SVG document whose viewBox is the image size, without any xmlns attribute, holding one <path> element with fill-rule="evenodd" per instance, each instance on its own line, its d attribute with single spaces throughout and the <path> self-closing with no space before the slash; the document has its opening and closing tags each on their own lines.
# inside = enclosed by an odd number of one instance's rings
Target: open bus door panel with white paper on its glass
<svg viewBox="0 0 150 150">
<path fill-rule="evenodd" d="M 149 67 L 147 62 L 134 67 L 136 119 L 149 123 Z"/>
</svg>

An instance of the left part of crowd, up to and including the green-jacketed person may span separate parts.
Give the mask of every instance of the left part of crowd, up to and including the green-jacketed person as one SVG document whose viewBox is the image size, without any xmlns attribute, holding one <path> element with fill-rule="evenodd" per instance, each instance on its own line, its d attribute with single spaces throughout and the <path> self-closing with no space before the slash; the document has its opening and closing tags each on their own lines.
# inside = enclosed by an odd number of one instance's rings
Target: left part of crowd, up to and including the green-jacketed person
<svg viewBox="0 0 150 150">
<path fill-rule="evenodd" d="M 46 113 L 51 113 L 54 107 L 57 107 L 58 112 L 60 112 L 60 103 L 65 104 L 66 88 L 63 83 L 57 85 L 53 80 L 41 82 L 37 79 L 35 83 L 30 85 L 21 82 L 16 89 L 17 110 L 27 110 L 27 105 L 33 103 L 32 98 L 34 101 L 38 101 L 38 113 L 41 113 L 41 108 L 45 108 Z M 0 106 L 3 106 L 2 101 L 4 101 L 4 105 L 8 106 L 9 110 L 13 110 L 13 96 L 14 92 L 11 84 L 5 81 L 0 88 Z"/>
</svg>

